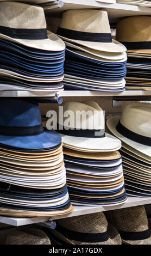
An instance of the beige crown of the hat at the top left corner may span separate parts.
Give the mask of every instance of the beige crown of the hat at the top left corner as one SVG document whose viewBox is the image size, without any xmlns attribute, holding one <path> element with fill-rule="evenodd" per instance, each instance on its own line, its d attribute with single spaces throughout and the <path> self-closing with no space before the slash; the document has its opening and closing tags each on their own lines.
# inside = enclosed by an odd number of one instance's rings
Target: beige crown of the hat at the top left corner
<svg viewBox="0 0 151 256">
<path fill-rule="evenodd" d="M 1 2 L 0 26 L 21 29 L 46 28 L 43 8 L 19 2 Z"/>
</svg>

